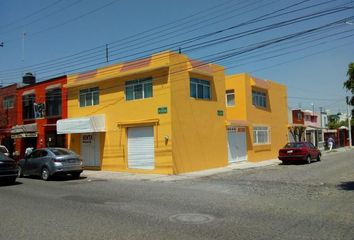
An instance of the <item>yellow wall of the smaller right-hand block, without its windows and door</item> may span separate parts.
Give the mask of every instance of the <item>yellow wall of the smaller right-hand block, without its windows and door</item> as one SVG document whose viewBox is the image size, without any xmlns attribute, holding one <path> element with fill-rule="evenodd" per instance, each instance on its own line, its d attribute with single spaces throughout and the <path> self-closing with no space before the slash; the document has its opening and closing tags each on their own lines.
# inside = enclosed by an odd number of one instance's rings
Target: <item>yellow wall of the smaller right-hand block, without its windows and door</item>
<svg viewBox="0 0 354 240">
<path fill-rule="evenodd" d="M 227 76 L 226 89 L 235 88 L 236 105 L 227 108 L 228 120 L 247 120 L 247 154 L 249 161 L 276 159 L 278 150 L 288 139 L 288 104 L 285 85 L 267 80 L 267 108 L 257 108 L 252 104 L 252 89 L 265 90 L 263 86 L 254 85 L 248 74 Z M 240 104 L 238 104 L 240 103 Z M 241 105 L 241 106 L 240 106 Z M 246 116 L 246 118 L 243 118 Z M 270 144 L 253 144 L 253 127 L 268 126 L 270 129 Z"/>
</svg>

